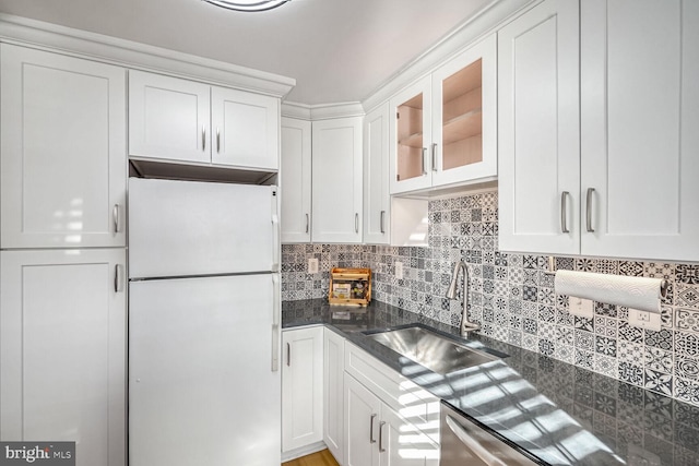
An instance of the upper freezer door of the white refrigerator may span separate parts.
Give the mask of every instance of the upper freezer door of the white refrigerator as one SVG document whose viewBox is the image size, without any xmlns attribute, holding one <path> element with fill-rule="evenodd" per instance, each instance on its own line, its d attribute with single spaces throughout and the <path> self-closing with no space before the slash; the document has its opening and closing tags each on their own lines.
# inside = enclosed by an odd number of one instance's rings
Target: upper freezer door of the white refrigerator
<svg viewBox="0 0 699 466">
<path fill-rule="evenodd" d="M 279 267 L 276 188 L 129 179 L 129 277 Z"/>
</svg>

